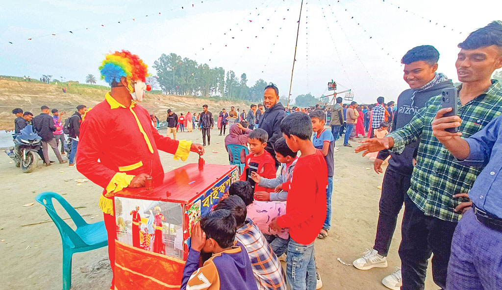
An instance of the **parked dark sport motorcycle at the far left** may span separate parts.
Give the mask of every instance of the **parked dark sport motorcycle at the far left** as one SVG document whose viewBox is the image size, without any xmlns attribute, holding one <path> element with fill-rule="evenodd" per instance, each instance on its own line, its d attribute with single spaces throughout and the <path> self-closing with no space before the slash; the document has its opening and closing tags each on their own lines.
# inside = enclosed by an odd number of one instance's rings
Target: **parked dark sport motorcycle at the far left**
<svg viewBox="0 0 502 290">
<path fill-rule="evenodd" d="M 24 173 L 35 170 L 38 163 L 38 151 L 42 146 L 42 137 L 33 132 L 32 125 L 28 125 L 19 134 L 12 134 L 14 137 L 14 149 L 6 153 L 14 160 L 16 167 L 21 167 Z"/>
</svg>

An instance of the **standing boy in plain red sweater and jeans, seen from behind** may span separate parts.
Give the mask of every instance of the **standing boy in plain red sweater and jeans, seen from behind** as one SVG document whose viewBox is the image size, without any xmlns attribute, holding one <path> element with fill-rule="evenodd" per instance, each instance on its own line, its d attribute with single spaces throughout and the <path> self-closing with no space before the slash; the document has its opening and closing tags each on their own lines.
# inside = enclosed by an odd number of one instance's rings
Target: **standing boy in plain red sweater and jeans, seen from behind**
<svg viewBox="0 0 502 290">
<path fill-rule="evenodd" d="M 324 155 L 310 141 L 312 122 L 305 113 L 293 113 L 281 122 L 281 132 L 293 151 L 301 152 L 293 176 L 279 185 L 288 191 L 286 214 L 272 219 L 273 230 L 289 228 L 286 273 L 292 290 L 315 290 L 314 241 L 326 218 L 328 168 Z"/>
</svg>

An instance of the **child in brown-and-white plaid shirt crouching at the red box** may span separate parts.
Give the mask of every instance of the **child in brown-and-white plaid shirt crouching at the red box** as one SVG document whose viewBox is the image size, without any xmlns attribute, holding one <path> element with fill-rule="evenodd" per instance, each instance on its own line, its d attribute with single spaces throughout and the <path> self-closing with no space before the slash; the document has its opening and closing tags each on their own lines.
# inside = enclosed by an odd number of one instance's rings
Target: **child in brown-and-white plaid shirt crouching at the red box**
<svg viewBox="0 0 502 290">
<path fill-rule="evenodd" d="M 249 196 L 252 196 L 249 188 Z M 281 262 L 253 220 L 246 217 L 246 205 L 238 195 L 221 200 L 214 210 L 227 209 L 235 218 L 235 240 L 246 249 L 259 290 L 286 290 Z"/>
</svg>

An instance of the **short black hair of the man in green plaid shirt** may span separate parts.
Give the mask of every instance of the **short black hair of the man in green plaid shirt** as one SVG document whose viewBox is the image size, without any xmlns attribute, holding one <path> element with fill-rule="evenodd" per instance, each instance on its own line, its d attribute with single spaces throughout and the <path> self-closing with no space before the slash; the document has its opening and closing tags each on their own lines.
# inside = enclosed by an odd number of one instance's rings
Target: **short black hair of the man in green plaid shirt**
<svg viewBox="0 0 502 290">
<path fill-rule="evenodd" d="M 458 47 L 474 50 L 482 47 L 496 45 L 502 51 L 502 21 L 493 21 L 487 26 L 475 30 Z"/>
</svg>

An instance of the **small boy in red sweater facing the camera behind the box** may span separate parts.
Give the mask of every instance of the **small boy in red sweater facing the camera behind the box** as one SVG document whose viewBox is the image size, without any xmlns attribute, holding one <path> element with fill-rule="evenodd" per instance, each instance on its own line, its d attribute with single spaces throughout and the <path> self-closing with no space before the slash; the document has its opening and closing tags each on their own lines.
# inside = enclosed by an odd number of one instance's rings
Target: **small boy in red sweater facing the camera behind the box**
<svg viewBox="0 0 502 290">
<path fill-rule="evenodd" d="M 276 163 L 272 155 L 265 150 L 267 147 L 267 141 L 269 139 L 269 134 L 263 129 L 255 129 L 249 133 L 247 143 L 249 143 L 249 151 L 251 153 L 247 154 L 246 162 L 242 174 L 240 175 L 240 180 L 249 181 L 254 192 L 257 191 L 274 191 L 273 188 L 266 188 L 256 184 L 255 180 L 252 178 L 252 172 L 258 173 L 260 176 L 265 178 L 276 178 Z"/>
</svg>

